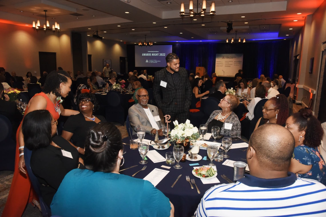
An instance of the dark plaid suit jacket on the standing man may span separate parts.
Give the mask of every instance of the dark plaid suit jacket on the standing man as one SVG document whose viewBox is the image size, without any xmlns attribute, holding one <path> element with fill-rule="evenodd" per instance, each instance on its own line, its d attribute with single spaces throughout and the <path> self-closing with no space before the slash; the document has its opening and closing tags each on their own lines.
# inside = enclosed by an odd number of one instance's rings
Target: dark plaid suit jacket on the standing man
<svg viewBox="0 0 326 217">
<path fill-rule="evenodd" d="M 153 94 L 158 106 L 163 113 L 170 113 L 174 106 L 177 106 L 178 112 L 189 111 L 191 104 L 191 86 L 188 79 L 188 74 L 185 68 L 179 68 L 180 81 L 174 87 L 166 77 L 166 69 L 163 68 L 157 71 L 154 76 Z M 161 81 L 167 83 L 166 87 L 160 86 Z M 163 94 L 161 99 L 160 92 Z M 177 105 L 175 105 L 175 102 Z"/>
</svg>

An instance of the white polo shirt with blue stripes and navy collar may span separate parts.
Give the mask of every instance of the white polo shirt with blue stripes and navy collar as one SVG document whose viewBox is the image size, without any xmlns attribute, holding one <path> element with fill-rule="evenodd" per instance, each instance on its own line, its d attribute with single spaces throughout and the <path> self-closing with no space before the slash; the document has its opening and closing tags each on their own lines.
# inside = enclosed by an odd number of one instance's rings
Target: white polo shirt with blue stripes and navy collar
<svg viewBox="0 0 326 217">
<path fill-rule="evenodd" d="M 326 216 L 326 187 L 290 172 L 279 179 L 245 175 L 237 183 L 210 188 L 195 216 Z"/>
</svg>

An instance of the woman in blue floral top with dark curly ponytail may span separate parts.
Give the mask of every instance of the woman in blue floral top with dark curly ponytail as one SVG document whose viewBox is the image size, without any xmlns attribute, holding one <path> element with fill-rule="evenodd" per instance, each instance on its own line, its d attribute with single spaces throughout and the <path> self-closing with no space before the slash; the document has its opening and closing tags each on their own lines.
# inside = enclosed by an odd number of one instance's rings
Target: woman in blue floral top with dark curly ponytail
<svg viewBox="0 0 326 217">
<path fill-rule="evenodd" d="M 295 141 L 289 171 L 300 178 L 314 179 L 326 184 L 325 161 L 319 152 L 324 131 L 310 109 L 300 109 L 286 120 Z"/>
</svg>

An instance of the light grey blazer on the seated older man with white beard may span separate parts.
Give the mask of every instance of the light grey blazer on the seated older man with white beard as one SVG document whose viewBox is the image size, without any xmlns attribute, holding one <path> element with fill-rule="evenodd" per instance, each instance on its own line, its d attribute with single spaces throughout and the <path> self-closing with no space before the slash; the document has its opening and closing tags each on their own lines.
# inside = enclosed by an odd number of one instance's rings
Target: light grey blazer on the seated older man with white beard
<svg viewBox="0 0 326 217">
<path fill-rule="evenodd" d="M 158 115 L 158 109 L 155 105 L 147 104 L 147 106 L 151 112 L 154 111 L 152 112 L 154 117 Z M 130 125 L 133 129 L 132 132 L 133 135 L 136 134 L 137 128 L 139 127 L 144 127 L 146 133 L 151 133 L 151 130 L 154 129 L 151 125 L 151 122 L 149 122 L 146 112 L 144 111 L 143 107 L 141 107 L 139 103 L 134 104 L 129 108 L 128 115 L 129 115 Z M 159 128 L 161 128 L 161 121 L 156 121 L 156 124 Z"/>
</svg>

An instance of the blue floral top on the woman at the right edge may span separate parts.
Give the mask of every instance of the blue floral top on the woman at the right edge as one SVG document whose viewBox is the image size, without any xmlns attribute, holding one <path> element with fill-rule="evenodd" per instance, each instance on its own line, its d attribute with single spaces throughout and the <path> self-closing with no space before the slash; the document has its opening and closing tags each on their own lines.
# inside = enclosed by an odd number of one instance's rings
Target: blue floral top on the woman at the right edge
<svg viewBox="0 0 326 217">
<path fill-rule="evenodd" d="M 294 148 L 292 159 L 296 159 L 301 164 L 312 165 L 310 171 L 305 174 L 297 174 L 297 177 L 314 179 L 322 184 L 326 184 L 326 166 L 318 148 L 311 148 L 304 144 Z"/>
</svg>

